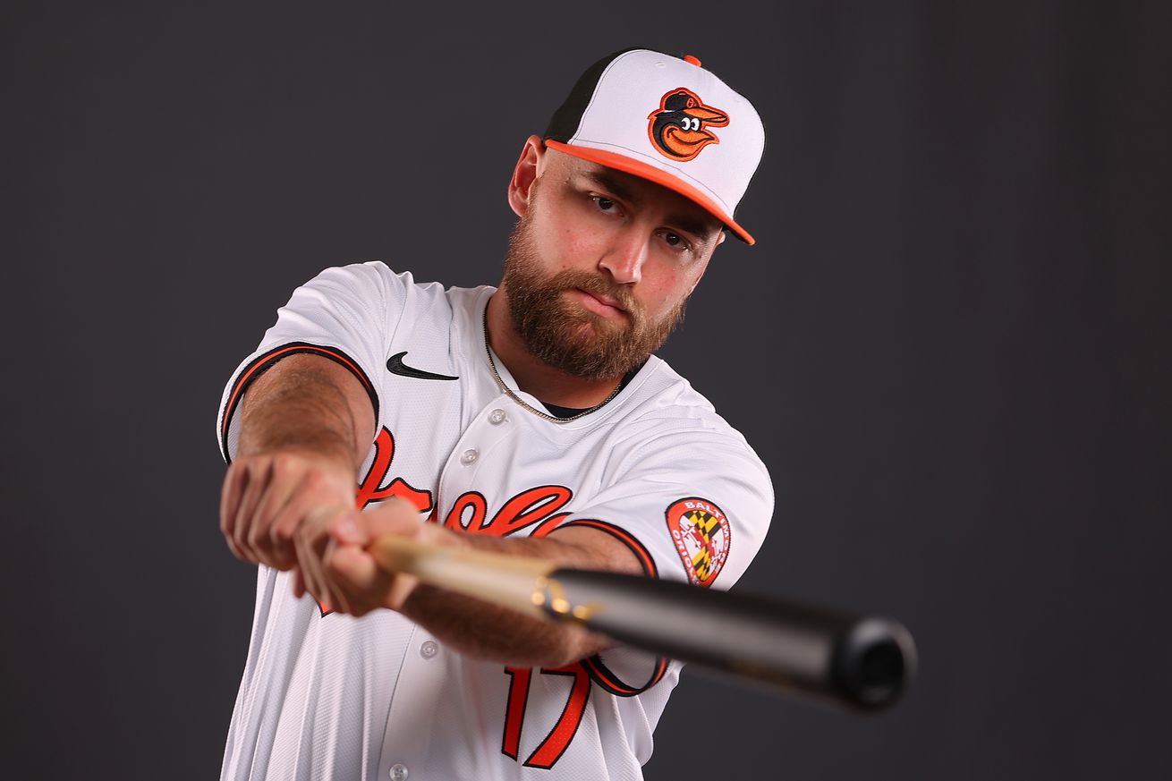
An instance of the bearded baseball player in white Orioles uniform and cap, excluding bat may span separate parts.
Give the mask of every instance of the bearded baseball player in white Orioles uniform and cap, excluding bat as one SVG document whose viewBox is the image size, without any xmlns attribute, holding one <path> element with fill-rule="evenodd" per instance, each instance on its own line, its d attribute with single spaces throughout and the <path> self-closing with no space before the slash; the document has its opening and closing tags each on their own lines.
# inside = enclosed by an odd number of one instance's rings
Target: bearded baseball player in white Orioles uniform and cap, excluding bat
<svg viewBox="0 0 1172 781">
<path fill-rule="evenodd" d="M 373 262 L 293 293 L 217 421 L 222 529 L 260 565 L 224 779 L 642 777 L 679 664 L 366 546 L 736 582 L 769 476 L 652 353 L 725 233 L 752 243 L 732 213 L 763 145 L 695 57 L 609 55 L 524 144 L 498 287 Z"/>
</svg>

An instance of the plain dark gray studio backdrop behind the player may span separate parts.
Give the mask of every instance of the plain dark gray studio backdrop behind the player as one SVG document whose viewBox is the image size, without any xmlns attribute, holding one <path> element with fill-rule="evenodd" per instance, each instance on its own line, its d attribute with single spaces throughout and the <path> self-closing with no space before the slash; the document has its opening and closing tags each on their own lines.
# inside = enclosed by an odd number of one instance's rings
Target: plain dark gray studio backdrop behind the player
<svg viewBox="0 0 1172 781">
<path fill-rule="evenodd" d="M 1167 4 L 179 5 L 0 12 L 6 777 L 216 775 L 224 381 L 323 266 L 495 281 L 523 140 L 631 45 L 768 128 L 663 351 L 772 470 L 743 588 L 922 657 L 870 719 L 686 673 L 648 777 L 1172 777 Z"/>
</svg>

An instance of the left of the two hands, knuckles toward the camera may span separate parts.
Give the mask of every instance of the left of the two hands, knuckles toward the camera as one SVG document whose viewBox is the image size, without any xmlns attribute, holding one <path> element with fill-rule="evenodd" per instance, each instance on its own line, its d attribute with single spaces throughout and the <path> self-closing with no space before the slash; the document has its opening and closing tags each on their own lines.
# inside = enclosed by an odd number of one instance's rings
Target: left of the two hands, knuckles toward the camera
<svg viewBox="0 0 1172 781">
<path fill-rule="evenodd" d="M 339 459 L 291 449 L 238 457 L 224 477 L 220 530 L 238 558 L 291 570 L 299 546 L 320 558 L 329 530 L 357 515 L 354 493 L 353 468 Z"/>
</svg>

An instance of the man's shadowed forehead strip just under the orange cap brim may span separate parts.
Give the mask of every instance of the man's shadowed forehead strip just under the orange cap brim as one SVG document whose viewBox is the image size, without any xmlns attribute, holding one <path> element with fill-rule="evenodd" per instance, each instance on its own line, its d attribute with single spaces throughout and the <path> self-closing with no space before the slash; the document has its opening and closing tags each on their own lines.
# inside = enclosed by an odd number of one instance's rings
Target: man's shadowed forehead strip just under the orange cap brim
<svg viewBox="0 0 1172 781">
<path fill-rule="evenodd" d="M 717 233 L 724 227 L 707 209 L 661 184 L 556 149 L 546 149 L 545 155 L 543 176 L 552 176 L 567 185 L 585 183 L 636 206 L 660 209 L 700 235 Z"/>
</svg>

